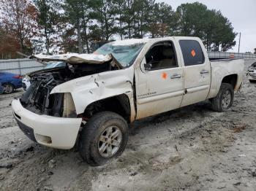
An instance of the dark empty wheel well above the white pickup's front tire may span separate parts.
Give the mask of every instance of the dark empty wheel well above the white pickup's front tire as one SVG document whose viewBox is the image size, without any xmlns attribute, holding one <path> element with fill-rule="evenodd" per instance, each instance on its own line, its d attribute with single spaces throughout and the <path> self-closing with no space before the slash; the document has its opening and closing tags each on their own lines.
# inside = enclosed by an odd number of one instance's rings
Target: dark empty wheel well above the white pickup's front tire
<svg viewBox="0 0 256 191">
<path fill-rule="evenodd" d="M 85 111 L 83 112 L 83 117 L 85 120 L 89 120 L 89 118 L 91 118 L 94 114 L 105 111 L 120 114 L 121 117 L 124 117 L 124 119 L 129 122 L 131 109 L 128 96 L 121 94 L 95 101 L 86 107 Z"/>
</svg>

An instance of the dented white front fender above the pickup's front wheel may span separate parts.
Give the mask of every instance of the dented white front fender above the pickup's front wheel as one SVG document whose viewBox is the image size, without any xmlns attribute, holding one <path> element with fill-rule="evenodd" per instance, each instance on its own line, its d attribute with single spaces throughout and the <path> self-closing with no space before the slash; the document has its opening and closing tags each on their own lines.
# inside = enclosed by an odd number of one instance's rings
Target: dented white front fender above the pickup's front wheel
<svg viewBox="0 0 256 191">
<path fill-rule="evenodd" d="M 86 107 L 95 101 L 125 94 L 129 98 L 131 115 L 134 116 L 133 77 L 133 67 L 106 71 L 72 79 L 54 87 L 51 93 L 71 93 L 77 114 L 83 113 Z"/>
</svg>

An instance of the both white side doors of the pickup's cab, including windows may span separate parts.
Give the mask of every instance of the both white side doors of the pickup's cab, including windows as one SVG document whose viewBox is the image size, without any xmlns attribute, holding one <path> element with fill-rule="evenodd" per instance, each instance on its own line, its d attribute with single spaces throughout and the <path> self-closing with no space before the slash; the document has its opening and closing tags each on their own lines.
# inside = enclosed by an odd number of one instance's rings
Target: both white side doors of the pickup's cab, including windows
<svg viewBox="0 0 256 191">
<path fill-rule="evenodd" d="M 206 100 L 211 65 L 201 43 L 195 38 L 169 37 L 147 44 L 135 69 L 138 118 Z"/>
</svg>

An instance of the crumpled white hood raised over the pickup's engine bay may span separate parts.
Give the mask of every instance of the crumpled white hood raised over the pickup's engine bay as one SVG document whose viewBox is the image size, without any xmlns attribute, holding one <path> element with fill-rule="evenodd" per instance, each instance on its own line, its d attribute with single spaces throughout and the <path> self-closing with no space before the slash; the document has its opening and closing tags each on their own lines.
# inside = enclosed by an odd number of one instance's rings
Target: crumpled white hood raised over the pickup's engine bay
<svg viewBox="0 0 256 191">
<path fill-rule="evenodd" d="M 94 54 L 78 54 L 69 53 L 62 55 L 32 55 L 30 58 L 36 58 L 40 61 L 64 61 L 66 63 L 91 63 L 100 64 L 110 61 L 112 55 L 94 55 Z"/>
</svg>

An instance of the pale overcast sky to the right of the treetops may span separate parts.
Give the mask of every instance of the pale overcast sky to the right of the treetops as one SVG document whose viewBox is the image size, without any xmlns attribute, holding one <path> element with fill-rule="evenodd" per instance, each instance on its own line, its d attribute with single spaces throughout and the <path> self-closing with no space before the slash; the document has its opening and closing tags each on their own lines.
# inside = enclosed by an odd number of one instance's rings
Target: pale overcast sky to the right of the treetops
<svg viewBox="0 0 256 191">
<path fill-rule="evenodd" d="M 170 4 L 176 9 L 180 4 L 193 3 L 195 0 L 157 0 Z M 241 32 L 240 52 L 254 52 L 256 48 L 256 0 L 197 0 L 208 9 L 217 9 L 227 17 L 234 31 Z M 229 52 L 238 52 L 239 35 L 236 36 L 236 46 Z"/>
</svg>

